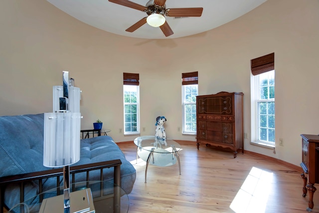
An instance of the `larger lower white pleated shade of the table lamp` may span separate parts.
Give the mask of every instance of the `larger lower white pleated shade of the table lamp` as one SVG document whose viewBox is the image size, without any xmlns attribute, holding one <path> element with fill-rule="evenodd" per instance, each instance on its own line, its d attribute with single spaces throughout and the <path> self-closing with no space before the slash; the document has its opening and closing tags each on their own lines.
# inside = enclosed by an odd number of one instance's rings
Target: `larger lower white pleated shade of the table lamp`
<svg viewBox="0 0 319 213">
<path fill-rule="evenodd" d="M 44 113 L 43 165 L 63 167 L 80 160 L 81 113 Z"/>
</svg>

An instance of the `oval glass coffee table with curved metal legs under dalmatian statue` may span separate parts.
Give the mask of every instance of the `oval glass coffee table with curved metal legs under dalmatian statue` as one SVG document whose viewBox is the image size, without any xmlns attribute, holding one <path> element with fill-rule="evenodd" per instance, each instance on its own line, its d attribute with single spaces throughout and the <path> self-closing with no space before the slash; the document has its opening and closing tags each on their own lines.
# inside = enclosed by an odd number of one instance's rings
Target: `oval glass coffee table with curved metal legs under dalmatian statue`
<svg viewBox="0 0 319 213">
<path fill-rule="evenodd" d="M 139 157 L 146 162 L 145 183 L 147 183 L 147 173 L 151 158 L 151 165 L 159 167 L 172 166 L 178 162 L 179 175 L 181 175 L 178 155 L 181 147 L 176 141 L 170 139 L 162 140 L 156 136 L 141 136 L 134 140 L 134 144 L 137 146 L 136 163 Z"/>
</svg>

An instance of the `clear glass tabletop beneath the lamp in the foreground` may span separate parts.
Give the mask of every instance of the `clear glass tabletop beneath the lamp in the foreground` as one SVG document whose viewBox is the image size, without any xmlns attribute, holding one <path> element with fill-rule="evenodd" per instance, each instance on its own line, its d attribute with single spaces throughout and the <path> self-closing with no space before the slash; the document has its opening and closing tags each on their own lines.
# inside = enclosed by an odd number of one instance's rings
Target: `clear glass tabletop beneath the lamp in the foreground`
<svg viewBox="0 0 319 213">
<path fill-rule="evenodd" d="M 127 213 L 129 197 L 119 186 L 102 181 L 70 183 L 70 212 Z M 90 196 L 90 193 L 92 196 Z M 121 197 L 117 197 L 119 195 Z M 90 202 L 93 199 L 92 202 Z M 63 213 L 63 186 L 45 191 L 17 204 L 8 213 Z M 42 205 L 43 204 L 43 205 Z M 90 208 L 90 210 L 88 209 Z"/>
</svg>

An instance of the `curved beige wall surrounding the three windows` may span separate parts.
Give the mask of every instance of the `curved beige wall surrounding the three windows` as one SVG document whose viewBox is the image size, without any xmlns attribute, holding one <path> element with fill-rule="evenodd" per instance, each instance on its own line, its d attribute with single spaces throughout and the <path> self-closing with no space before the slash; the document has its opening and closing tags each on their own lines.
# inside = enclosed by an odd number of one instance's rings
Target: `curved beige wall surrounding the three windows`
<svg viewBox="0 0 319 213">
<path fill-rule="evenodd" d="M 299 165 L 300 134 L 319 133 L 318 10 L 318 0 L 268 0 L 207 32 L 147 40 L 91 27 L 45 0 L 1 0 L 0 115 L 51 112 L 52 86 L 67 70 L 83 91 L 82 129 L 100 119 L 115 141 L 133 140 L 119 128 L 123 72 L 134 72 L 140 73 L 143 135 L 155 134 L 155 118 L 163 115 L 169 138 L 195 141 L 177 127 L 181 73 L 198 71 L 201 95 L 245 94 L 244 132 L 250 135 L 250 59 L 275 52 L 276 145 L 283 138 L 284 147 L 273 154 L 245 139 L 245 149 Z"/>
</svg>

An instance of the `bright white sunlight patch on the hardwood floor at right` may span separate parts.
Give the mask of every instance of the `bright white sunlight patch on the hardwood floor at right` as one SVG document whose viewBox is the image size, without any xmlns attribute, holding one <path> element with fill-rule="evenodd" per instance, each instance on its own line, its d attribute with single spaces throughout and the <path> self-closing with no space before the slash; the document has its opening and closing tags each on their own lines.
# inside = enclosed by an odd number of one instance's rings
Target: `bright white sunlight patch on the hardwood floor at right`
<svg viewBox="0 0 319 213">
<path fill-rule="evenodd" d="M 273 173 L 253 167 L 230 208 L 235 213 L 265 213 Z"/>
</svg>

